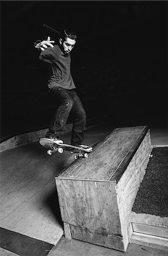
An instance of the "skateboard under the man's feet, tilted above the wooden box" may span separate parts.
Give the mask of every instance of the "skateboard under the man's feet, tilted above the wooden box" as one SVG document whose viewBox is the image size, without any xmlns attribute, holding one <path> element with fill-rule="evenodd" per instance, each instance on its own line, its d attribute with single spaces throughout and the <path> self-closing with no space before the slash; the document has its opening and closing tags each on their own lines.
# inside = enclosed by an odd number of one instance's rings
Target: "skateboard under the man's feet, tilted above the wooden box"
<svg viewBox="0 0 168 256">
<path fill-rule="evenodd" d="M 70 144 L 59 143 L 54 141 L 53 139 L 41 138 L 39 143 L 41 146 L 45 148 L 49 148 L 47 150 L 48 155 L 52 155 L 53 152 L 63 153 L 64 150 L 70 151 L 72 154 L 77 154 L 74 156 L 74 159 L 78 158 L 88 158 L 88 154 L 93 150 L 92 147 L 89 148 L 81 148 L 77 146 L 72 146 Z"/>
</svg>

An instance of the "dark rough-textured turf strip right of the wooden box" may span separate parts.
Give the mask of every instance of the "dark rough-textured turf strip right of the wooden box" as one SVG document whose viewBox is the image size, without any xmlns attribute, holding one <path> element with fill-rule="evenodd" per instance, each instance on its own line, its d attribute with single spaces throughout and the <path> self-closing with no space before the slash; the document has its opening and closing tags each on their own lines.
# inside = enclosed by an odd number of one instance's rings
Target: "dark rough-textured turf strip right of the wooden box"
<svg viewBox="0 0 168 256">
<path fill-rule="evenodd" d="M 168 147 L 152 150 L 133 212 L 168 217 Z"/>
</svg>

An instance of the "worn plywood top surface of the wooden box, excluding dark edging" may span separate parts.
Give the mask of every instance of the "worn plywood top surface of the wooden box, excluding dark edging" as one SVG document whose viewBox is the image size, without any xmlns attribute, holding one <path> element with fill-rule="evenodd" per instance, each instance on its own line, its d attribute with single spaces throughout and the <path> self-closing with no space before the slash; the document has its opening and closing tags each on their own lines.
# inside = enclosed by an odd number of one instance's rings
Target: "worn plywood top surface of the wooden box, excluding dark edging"
<svg viewBox="0 0 168 256">
<path fill-rule="evenodd" d="M 145 126 L 117 128 L 100 141 L 88 159 L 79 159 L 59 177 L 109 180 L 127 156 Z M 85 166 L 85 168 L 83 168 Z"/>
</svg>

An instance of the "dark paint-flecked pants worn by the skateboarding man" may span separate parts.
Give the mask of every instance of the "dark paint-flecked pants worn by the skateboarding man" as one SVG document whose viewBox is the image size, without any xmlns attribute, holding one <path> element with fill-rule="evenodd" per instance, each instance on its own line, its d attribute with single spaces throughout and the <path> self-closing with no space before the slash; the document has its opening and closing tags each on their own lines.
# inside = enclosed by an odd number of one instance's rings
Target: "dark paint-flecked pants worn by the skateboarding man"
<svg viewBox="0 0 168 256">
<path fill-rule="evenodd" d="M 81 144 L 86 129 L 86 113 L 82 102 L 74 89 L 53 88 L 49 91 L 53 101 L 58 104 L 54 113 L 48 133 L 57 134 L 57 131 L 64 129 L 70 113 L 73 115 L 72 144 Z"/>
</svg>

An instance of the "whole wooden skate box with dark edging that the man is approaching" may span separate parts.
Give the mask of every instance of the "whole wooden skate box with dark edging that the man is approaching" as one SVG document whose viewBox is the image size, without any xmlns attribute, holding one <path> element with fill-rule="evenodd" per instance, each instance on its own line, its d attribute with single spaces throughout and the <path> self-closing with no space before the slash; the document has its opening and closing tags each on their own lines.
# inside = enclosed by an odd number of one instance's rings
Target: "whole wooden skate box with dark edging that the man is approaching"
<svg viewBox="0 0 168 256">
<path fill-rule="evenodd" d="M 146 126 L 117 128 L 55 177 L 65 237 L 125 251 L 152 150 Z"/>
</svg>

